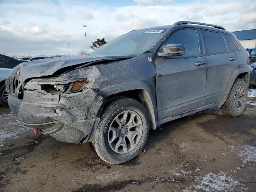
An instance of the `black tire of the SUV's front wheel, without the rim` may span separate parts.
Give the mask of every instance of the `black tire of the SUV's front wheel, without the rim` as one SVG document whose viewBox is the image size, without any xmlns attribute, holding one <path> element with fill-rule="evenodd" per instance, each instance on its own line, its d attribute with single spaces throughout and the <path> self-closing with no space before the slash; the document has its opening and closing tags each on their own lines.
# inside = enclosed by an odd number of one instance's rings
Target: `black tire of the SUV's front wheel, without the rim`
<svg viewBox="0 0 256 192">
<path fill-rule="evenodd" d="M 142 120 L 142 134 L 140 134 L 140 140 L 131 151 L 124 154 L 115 152 L 110 147 L 108 142 L 109 128 L 112 122 L 122 112 L 132 111 L 136 112 Z M 110 164 L 120 164 L 129 161 L 142 151 L 149 134 L 149 117 L 146 109 L 140 102 L 132 98 L 118 98 L 113 100 L 106 106 L 100 117 L 100 122 L 95 132 L 95 138 L 93 140 L 93 146 L 98 156 Z M 123 129 L 125 129 L 124 127 Z M 140 128 L 139 128 L 140 129 Z M 123 135 L 122 135 L 123 136 Z"/>
</svg>

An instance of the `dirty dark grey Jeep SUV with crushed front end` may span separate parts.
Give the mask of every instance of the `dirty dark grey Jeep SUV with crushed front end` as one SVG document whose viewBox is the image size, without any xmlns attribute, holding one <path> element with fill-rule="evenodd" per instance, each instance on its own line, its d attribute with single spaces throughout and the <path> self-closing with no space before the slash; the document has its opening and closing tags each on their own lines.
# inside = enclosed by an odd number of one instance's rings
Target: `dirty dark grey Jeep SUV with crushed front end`
<svg viewBox="0 0 256 192">
<path fill-rule="evenodd" d="M 249 58 L 221 26 L 134 30 L 88 56 L 25 62 L 6 79 L 18 121 L 62 142 L 92 142 L 110 164 L 136 157 L 150 128 L 220 106 L 244 111 Z"/>
</svg>

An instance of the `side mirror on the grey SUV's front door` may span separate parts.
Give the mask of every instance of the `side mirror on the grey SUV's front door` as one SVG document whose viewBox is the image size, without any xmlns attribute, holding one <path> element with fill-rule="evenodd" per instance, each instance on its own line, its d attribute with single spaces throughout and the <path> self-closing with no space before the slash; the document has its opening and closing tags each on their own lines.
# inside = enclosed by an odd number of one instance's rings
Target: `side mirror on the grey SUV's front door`
<svg viewBox="0 0 256 192">
<path fill-rule="evenodd" d="M 163 47 L 162 51 L 159 51 L 157 56 L 167 57 L 167 56 L 181 56 L 184 55 L 185 48 L 183 45 L 179 44 L 168 44 Z"/>
</svg>

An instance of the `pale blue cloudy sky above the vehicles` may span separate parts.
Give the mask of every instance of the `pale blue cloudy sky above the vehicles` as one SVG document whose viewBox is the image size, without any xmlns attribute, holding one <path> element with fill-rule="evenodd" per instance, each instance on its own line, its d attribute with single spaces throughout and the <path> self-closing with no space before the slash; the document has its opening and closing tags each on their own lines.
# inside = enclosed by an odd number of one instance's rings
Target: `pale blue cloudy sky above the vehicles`
<svg viewBox="0 0 256 192">
<path fill-rule="evenodd" d="M 97 38 L 178 20 L 256 28 L 255 0 L 0 0 L 0 8 L 0 54 L 9 56 L 68 54 L 68 43 L 78 55 Z"/>
</svg>

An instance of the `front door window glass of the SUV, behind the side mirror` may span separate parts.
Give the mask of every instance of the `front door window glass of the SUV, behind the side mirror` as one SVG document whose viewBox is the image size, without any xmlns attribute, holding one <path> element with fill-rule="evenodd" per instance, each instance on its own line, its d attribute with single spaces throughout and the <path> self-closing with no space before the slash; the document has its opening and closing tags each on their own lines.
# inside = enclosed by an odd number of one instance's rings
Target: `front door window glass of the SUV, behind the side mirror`
<svg viewBox="0 0 256 192">
<path fill-rule="evenodd" d="M 171 34 L 164 42 L 159 52 L 168 44 L 179 44 L 184 46 L 185 53 L 181 56 L 169 56 L 170 58 L 192 58 L 200 55 L 198 36 L 195 29 L 183 29 Z"/>
</svg>

